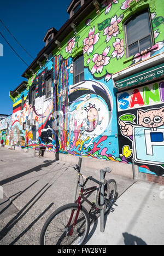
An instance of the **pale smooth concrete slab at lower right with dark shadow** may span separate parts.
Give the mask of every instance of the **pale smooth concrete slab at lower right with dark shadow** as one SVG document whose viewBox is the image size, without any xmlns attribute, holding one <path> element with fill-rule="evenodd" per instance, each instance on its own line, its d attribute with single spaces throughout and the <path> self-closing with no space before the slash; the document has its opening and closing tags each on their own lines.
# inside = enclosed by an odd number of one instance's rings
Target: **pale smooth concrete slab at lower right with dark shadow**
<svg viewBox="0 0 164 256">
<path fill-rule="evenodd" d="M 143 181 L 134 183 L 106 216 L 105 231 L 100 232 L 100 219 L 91 226 L 86 245 L 164 245 L 160 188 Z"/>
</svg>

